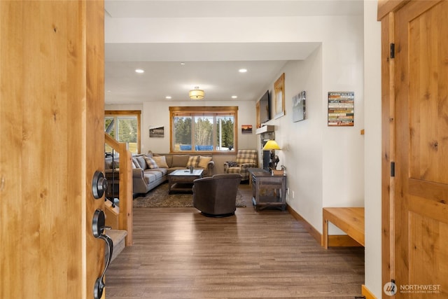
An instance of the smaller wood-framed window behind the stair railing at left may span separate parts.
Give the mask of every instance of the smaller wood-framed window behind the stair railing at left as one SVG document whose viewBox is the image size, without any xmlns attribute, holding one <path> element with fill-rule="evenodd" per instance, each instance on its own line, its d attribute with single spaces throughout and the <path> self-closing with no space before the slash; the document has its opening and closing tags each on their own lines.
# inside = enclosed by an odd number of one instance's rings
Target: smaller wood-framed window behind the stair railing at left
<svg viewBox="0 0 448 299">
<path fill-rule="evenodd" d="M 104 111 L 104 132 L 127 144 L 131 153 L 140 152 L 140 111 Z M 110 153 L 112 148 L 104 149 Z"/>
</svg>

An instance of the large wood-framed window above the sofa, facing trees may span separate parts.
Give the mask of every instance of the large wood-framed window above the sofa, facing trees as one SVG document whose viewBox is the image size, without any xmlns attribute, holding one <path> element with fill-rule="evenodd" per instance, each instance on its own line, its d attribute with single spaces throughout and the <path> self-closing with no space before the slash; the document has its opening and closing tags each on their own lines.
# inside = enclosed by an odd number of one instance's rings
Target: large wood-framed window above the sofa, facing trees
<svg viewBox="0 0 448 299">
<path fill-rule="evenodd" d="M 172 152 L 235 152 L 236 106 L 169 107 Z"/>
</svg>

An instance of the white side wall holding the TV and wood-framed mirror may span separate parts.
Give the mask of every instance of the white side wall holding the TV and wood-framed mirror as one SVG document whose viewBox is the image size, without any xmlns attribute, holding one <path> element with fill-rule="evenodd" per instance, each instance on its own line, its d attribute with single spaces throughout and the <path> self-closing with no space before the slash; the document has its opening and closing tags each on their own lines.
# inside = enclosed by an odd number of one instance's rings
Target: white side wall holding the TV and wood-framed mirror
<svg viewBox="0 0 448 299">
<path fill-rule="evenodd" d="M 285 73 L 286 116 L 267 123 L 275 126 L 275 139 L 282 148 L 276 153 L 279 165 L 286 166 L 288 205 L 317 230 L 321 228 L 323 198 L 322 70 L 321 47 L 307 60 L 288 62 L 281 71 Z M 302 90 L 307 92 L 306 118 L 293 123 L 292 97 Z"/>
</svg>

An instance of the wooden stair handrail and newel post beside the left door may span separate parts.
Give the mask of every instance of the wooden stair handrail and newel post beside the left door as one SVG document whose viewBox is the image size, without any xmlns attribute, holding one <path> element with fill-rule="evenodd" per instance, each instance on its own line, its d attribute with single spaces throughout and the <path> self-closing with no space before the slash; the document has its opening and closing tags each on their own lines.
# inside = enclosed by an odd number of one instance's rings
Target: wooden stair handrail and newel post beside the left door
<svg viewBox="0 0 448 299">
<path fill-rule="evenodd" d="M 119 162 L 119 190 L 120 214 L 118 215 L 118 229 L 126 230 L 126 246 L 132 245 L 132 155 L 127 151 L 126 144 L 113 139 L 104 133 L 104 142 L 120 155 Z"/>
</svg>

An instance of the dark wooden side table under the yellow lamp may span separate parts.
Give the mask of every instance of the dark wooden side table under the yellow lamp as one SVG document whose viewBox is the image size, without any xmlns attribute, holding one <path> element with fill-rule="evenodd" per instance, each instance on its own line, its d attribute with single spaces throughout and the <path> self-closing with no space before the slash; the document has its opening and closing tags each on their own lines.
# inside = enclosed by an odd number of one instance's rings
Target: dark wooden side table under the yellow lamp
<svg viewBox="0 0 448 299">
<path fill-rule="evenodd" d="M 255 209 L 286 209 L 286 176 L 273 176 L 263 169 L 248 169 L 251 174 L 252 203 Z"/>
</svg>

